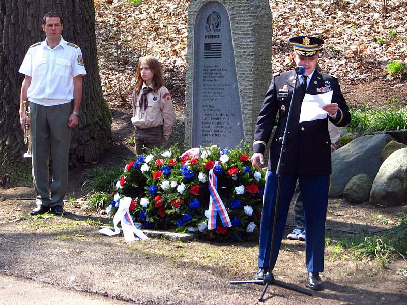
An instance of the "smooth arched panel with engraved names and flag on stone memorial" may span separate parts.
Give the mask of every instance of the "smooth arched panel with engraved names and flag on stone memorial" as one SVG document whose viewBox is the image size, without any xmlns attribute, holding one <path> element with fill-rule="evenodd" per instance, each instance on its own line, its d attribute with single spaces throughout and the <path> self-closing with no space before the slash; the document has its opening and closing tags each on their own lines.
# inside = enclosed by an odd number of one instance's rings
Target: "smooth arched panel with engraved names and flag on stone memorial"
<svg viewBox="0 0 407 305">
<path fill-rule="evenodd" d="M 195 20 L 192 144 L 235 147 L 244 140 L 229 16 L 217 1 Z"/>
</svg>

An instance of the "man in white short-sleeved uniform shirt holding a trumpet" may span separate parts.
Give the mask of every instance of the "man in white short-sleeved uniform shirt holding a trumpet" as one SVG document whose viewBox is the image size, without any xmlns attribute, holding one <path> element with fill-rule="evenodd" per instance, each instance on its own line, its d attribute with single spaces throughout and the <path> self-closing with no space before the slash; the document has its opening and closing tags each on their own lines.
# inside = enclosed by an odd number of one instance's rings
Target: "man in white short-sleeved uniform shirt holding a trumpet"
<svg viewBox="0 0 407 305">
<path fill-rule="evenodd" d="M 28 117 L 24 101 L 31 110 L 33 183 L 37 207 L 31 215 L 64 212 L 68 189 L 68 157 L 71 129 L 78 125 L 82 99 L 82 76 L 86 75 L 80 48 L 65 41 L 63 20 L 48 12 L 42 19 L 46 39 L 33 44 L 21 64 L 25 75 L 20 95 L 20 123 L 25 129 Z M 71 100 L 73 99 L 73 110 Z M 49 194 L 49 155 L 52 156 L 52 185 Z"/>
</svg>

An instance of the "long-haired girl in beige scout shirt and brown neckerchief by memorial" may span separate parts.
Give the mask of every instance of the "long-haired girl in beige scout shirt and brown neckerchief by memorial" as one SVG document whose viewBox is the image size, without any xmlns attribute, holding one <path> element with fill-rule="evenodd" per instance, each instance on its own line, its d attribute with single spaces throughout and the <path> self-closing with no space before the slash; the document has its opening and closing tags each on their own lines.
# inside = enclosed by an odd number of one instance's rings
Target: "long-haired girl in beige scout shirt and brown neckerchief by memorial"
<svg viewBox="0 0 407 305">
<path fill-rule="evenodd" d="M 136 155 L 143 148 L 161 147 L 175 122 L 171 96 L 165 87 L 161 65 L 153 56 L 140 58 L 132 95 Z"/>
</svg>

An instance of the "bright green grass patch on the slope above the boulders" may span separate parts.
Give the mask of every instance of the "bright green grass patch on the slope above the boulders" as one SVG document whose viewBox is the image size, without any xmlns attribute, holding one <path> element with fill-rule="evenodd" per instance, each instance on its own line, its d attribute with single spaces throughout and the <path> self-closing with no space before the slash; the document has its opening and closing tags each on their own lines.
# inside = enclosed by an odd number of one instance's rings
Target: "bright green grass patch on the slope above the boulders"
<svg viewBox="0 0 407 305">
<path fill-rule="evenodd" d="M 394 103 L 394 101 L 392 102 Z M 359 136 L 407 128 L 407 108 L 390 106 L 388 109 L 352 108 L 348 130 Z"/>
</svg>

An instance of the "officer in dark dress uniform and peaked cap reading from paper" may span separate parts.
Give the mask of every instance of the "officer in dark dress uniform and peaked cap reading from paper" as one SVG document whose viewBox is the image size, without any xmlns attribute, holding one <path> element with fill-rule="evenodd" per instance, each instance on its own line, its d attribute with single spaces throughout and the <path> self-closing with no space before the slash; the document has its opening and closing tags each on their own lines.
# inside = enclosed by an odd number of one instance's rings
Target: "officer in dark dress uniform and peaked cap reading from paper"
<svg viewBox="0 0 407 305">
<path fill-rule="evenodd" d="M 295 36 L 289 39 L 294 43 L 293 58 L 298 66 L 305 68 L 299 78 L 293 100 L 292 117 L 288 127 L 286 153 L 282 168 L 282 184 L 277 215 L 274 253 L 270 262 L 270 244 L 274 220 L 274 207 L 277 196 L 278 176 L 276 174 L 281 143 L 287 121 L 288 108 L 295 85 L 296 72 L 289 71 L 273 75 L 270 87 L 257 118 L 254 133 L 253 166 L 263 164 L 263 154 L 270 139 L 277 113 L 277 129 L 272 138 L 270 157 L 266 174 L 263 211 L 261 214 L 258 271 L 255 280 L 265 279 L 266 272 L 277 260 L 284 233 L 290 201 L 297 179 L 303 194 L 306 231 L 307 286 L 321 290 L 323 285 L 319 272 L 324 270 L 325 219 L 328 206 L 329 175 L 331 174 L 331 140 L 328 120 L 337 127 L 349 123 L 351 115 L 335 76 L 318 72 L 319 46 L 322 39 L 312 36 Z M 327 112 L 325 118 L 301 121 L 301 105 L 305 94 L 317 95 L 332 91 L 331 103 L 322 107 Z"/>
</svg>

